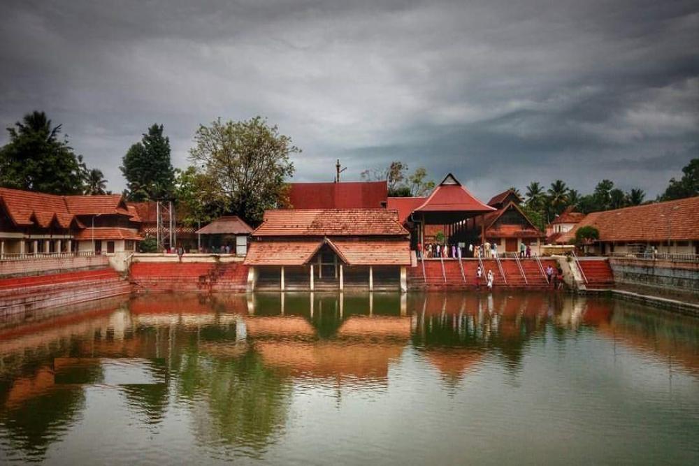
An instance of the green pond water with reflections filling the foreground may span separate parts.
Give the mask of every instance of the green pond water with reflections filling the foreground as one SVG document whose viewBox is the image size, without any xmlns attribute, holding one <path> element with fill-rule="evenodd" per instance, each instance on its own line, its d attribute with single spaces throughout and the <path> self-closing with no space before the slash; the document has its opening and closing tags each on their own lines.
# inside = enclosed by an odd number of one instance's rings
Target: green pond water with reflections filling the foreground
<svg viewBox="0 0 699 466">
<path fill-rule="evenodd" d="M 0 464 L 699 464 L 699 320 L 607 298 L 151 295 L 0 356 Z"/>
</svg>

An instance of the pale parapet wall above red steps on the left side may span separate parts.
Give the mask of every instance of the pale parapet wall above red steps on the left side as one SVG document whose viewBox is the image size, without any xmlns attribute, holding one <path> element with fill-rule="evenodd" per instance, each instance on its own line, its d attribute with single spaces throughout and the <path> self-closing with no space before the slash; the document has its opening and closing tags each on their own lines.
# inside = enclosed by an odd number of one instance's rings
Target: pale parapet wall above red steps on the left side
<svg viewBox="0 0 699 466">
<path fill-rule="evenodd" d="M 74 270 L 104 268 L 109 265 L 107 256 L 47 257 L 0 262 L 0 278 L 42 275 Z"/>
</svg>

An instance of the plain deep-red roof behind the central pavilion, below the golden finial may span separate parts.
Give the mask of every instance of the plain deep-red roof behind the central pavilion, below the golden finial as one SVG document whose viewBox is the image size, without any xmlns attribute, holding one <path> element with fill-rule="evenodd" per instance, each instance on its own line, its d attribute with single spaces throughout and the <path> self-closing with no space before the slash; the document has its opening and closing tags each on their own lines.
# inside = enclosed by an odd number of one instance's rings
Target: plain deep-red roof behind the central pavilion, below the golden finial
<svg viewBox="0 0 699 466">
<path fill-rule="evenodd" d="M 387 196 L 385 181 L 289 183 L 292 209 L 377 209 Z"/>
</svg>

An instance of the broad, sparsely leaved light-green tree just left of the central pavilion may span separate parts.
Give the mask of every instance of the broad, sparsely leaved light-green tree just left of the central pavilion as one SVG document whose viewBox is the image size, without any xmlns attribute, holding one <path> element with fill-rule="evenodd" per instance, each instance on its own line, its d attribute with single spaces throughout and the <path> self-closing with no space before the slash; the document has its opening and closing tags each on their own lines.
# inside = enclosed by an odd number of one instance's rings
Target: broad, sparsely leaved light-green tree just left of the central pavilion
<svg viewBox="0 0 699 466">
<path fill-rule="evenodd" d="M 262 117 L 242 122 L 216 119 L 201 125 L 189 159 L 208 186 L 211 203 L 256 224 L 267 209 L 284 204 L 284 179 L 294 174 L 291 138 Z"/>
</svg>

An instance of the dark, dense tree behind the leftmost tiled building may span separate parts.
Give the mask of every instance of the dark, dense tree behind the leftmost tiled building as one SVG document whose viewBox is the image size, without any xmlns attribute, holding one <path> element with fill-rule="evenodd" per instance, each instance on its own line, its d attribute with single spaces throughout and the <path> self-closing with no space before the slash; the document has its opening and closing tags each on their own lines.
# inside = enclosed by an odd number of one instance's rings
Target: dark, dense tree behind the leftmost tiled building
<svg viewBox="0 0 699 466">
<path fill-rule="evenodd" d="M 59 138 L 44 112 L 24 115 L 7 129 L 10 142 L 0 149 L 0 186 L 50 194 L 82 194 L 84 165 Z"/>
</svg>

